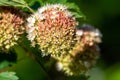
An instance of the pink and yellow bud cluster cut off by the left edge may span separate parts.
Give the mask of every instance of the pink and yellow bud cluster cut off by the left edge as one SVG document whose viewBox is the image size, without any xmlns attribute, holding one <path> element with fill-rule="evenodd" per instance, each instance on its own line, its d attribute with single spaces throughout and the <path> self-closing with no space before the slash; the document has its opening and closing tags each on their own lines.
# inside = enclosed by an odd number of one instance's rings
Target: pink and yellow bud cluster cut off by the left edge
<svg viewBox="0 0 120 80">
<path fill-rule="evenodd" d="M 12 7 L 0 7 L 0 51 L 8 52 L 24 33 L 24 13 Z"/>
</svg>

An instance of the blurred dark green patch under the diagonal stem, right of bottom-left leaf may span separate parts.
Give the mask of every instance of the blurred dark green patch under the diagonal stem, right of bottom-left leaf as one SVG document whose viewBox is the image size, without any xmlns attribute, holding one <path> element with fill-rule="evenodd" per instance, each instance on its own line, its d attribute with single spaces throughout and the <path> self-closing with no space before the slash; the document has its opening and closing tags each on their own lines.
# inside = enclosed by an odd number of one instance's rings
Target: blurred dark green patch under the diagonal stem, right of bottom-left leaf
<svg viewBox="0 0 120 80">
<path fill-rule="evenodd" d="M 10 70 L 16 72 L 20 80 L 49 80 L 47 73 L 42 67 L 31 59 L 30 56 L 24 55 L 25 57 L 13 65 Z"/>
</svg>

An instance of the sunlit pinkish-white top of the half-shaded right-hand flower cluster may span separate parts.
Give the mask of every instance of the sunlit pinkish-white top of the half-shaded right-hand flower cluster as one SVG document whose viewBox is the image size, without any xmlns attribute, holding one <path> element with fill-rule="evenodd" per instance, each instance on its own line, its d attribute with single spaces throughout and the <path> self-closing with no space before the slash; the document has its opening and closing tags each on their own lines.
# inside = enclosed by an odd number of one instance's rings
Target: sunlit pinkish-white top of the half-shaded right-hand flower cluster
<svg viewBox="0 0 120 80">
<path fill-rule="evenodd" d="M 96 43 L 101 43 L 102 34 L 98 29 L 88 24 L 83 24 L 80 29 L 76 30 L 77 39 L 84 45 L 93 46 Z"/>
</svg>

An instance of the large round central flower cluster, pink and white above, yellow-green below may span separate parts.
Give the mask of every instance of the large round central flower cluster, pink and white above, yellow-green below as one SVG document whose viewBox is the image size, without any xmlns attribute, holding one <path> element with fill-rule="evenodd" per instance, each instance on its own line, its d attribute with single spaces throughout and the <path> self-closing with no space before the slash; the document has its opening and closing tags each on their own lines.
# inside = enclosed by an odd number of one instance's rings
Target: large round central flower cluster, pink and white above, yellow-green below
<svg viewBox="0 0 120 80">
<path fill-rule="evenodd" d="M 68 54 L 75 44 L 76 20 L 61 4 L 49 4 L 27 19 L 28 39 L 39 45 L 43 55 L 61 56 Z"/>
</svg>

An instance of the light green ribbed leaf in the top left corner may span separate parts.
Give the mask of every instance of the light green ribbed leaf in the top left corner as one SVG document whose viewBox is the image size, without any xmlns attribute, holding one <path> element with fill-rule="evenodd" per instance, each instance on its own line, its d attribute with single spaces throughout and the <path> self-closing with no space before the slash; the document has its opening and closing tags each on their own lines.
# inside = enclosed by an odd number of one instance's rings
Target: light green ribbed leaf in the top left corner
<svg viewBox="0 0 120 80">
<path fill-rule="evenodd" d="M 0 6 L 25 7 L 26 5 L 24 0 L 0 0 Z"/>
</svg>

